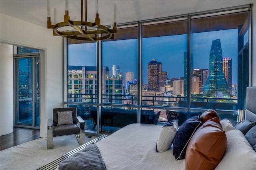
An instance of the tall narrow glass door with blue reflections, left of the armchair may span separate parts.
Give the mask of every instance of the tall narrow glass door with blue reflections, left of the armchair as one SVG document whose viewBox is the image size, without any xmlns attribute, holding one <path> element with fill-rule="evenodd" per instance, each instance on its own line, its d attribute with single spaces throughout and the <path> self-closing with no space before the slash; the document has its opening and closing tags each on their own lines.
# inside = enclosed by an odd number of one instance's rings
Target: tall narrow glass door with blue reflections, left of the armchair
<svg viewBox="0 0 256 170">
<path fill-rule="evenodd" d="M 14 47 L 16 48 L 16 47 Z M 14 50 L 16 51 L 16 49 Z M 40 55 L 36 49 L 18 47 L 15 63 L 14 126 L 40 125 Z"/>
</svg>

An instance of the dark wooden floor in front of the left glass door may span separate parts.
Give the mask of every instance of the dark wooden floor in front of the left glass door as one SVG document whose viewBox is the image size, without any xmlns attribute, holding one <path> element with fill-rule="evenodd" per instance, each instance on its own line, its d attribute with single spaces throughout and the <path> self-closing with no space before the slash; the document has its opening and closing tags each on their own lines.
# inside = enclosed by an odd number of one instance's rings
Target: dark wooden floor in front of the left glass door
<svg viewBox="0 0 256 170">
<path fill-rule="evenodd" d="M 12 133 L 0 136 L 0 150 L 8 149 L 38 138 L 40 138 L 39 129 L 14 127 Z"/>
</svg>

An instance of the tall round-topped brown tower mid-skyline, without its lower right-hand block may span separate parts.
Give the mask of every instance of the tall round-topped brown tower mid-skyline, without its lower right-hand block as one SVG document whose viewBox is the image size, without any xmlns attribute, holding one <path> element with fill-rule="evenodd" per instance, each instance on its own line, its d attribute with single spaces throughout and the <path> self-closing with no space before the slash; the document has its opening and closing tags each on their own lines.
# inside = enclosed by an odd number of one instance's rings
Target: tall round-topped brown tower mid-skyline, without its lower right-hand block
<svg viewBox="0 0 256 170">
<path fill-rule="evenodd" d="M 162 71 L 162 63 L 152 59 L 148 63 L 148 90 L 159 90 L 158 72 Z"/>
</svg>

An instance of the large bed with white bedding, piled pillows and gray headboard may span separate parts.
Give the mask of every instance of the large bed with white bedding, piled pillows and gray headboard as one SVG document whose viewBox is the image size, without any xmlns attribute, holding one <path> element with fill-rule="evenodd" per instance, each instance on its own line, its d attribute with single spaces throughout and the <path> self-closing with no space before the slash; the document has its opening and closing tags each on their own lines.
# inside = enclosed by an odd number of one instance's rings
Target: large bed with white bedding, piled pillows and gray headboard
<svg viewBox="0 0 256 170">
<path fill-rule="evenodd" d="M 232 126 L 232 124 L 227 120 L 221 120 L 220 123 L 217 122 L 217 118 L 214 117 L 214 121 L 211 119 L 209 122 L 212 123 L 207 127 L 212 128 L 212 126 L 218 124 L 222 125 L 222 131 L 219 136 L 220 139 L 218 141 L 222 141 L 225 144 L 216 144 L 214 143 L 214 147 L 211 146 L 211 150 L 207 151 L 207 154 L 202 156 L 204 152 L 204 144 L 202 143 L 193 143 L 196 135 L 200 135 L 198 131 L 200 128 L 204 126 L 202 123 L 198 129 L 195 130 L 193 135 L 190 137 L 190 141 L 188 141 L 188 145 L 186 146 L 186 158 L 185 159 L 177 159 L 174 156 L 174 145 L 175 138 L 178 134 L 178 131 L 181 131 L 182 126 L 174 135 L 174 139 L 172 141 L 171 147 L 169 147 L 166 151 L 156 152 L 158 147 L 156 143 L 160 140 L 160 135 L 162 133 L 162 129 L 164 127 L 159 125 L 152 124 L 130 124 L 122 129 L 116 131 L 112 135 L 105 137 L 104 139 L 95 143 L 96 148 L 100 152 L 100 158 L 103 161 L 104 167 L 91 168 L 91 169 L 107 169 L 107 170 L 187 170 L 187 169 L 206 169 L 209 164 L 213 164 L 207 169 L 215 169 L 215 170 L 256 170 L 256 144 L 255 144 L 255 134 L 256 134 L 256 87 L 248 87 L 247 88 L 247 104 L 246 104 L 246 119 L 247 121 L 243 121 L 239 125 Z M 199 115 L 202 116 L 202 115 Z M 215 122 L 216 120 L 216 122 Z M 208 122 L 206 121 L 206 122 Z M 245 124 L 250 124 L 250 128 L 248 126 L 244 126 Z M 242 130 L 241 130 L 242 127 Z M 206 128 L 206 126 L 204 127 Z M 220 128 L 220 127 L 219 127 Z M 239 129 L 240 128 L 240 129 Z M 243 131 L 243 128 L 247 128 L 246 131 Z M 203 128 L 201 128 L 203 129 Z M 215 133 L 214 129 L 214 133 Z M 211 130 L 207 130 L 211 131 Z M 204 131 L 205 132 L 205 131 Z M 249 133 L 250 134 L 246 134 Z M 245 134 L 244 134 L 245 133 Z M 247 135 L 247 137 L 246 137 Z M 224 137 L 223 137 L 224 136 Z M 205 138 L 206 137 L 206 138 Z M 209 137 L 207 134 L 204 134 L 200 137 L 201 139 L 208 140 Z M 247 139 L 250 139 L 248 141 Z M 214 136 L 214 139 L 216 137 Z M 210 139 L 211 141 L 214 139 Z M 204 142 L 201 140 L 201 142 Z M 207 142 L 208 143 L 208 142 Z M 196 146 L 199 144 L 199 146 Z M 208 144 L 206 144 L 208 145 Z M 218 147 L 216 147 L 219 145 Z M 198 147 L 194 149 L 195 147 Z M 221 149 L 222 148 L 222 149 Z M 200 150 L 201 149 L 201 150 Z M 192 151 L 191 151 L 192 150 Z M 199 151 L 198 151 L 199 150 Z M 223 150 L 223 151 L 222 151 Z M 184 149 L 183 149 L 184 151 Z M 210 153 L 211 152 L 211 153 Z M 214 152 L 212 154 L 212 152 Z M 223 152 L 223 154 L 221 153 Z M 79 154 L 79 152 L 75 153 Z M 74 155 L 75 155 L 74 154 Z M 201 154 L 198 157 L 198 154 Z M 216 154 L 222 154 L 220 158 L 215 159 Z M 86 164 L 79 160 L 77 161 L 76 157 L 72 155 L 69 158 L 62 160 L 59 165 L 59 169 L 82 169 L 81 167 Z M 210 156 L 209 156 L 210 155 Z M 80 154 L 81 157 L 81 154 Z M 87 157 L 86 154 L 84 157 Z M 202 159 L 202 160 L 201 160 Z M 210 161 L 210 162 L 209 162 Z M 215 162 L 214 162 L 215 161 Z M 217 161 L 217 163 L 216 163 Z M 196 162 L 196 164 L 194 163 Z M 214 162 L 214 163 L 212 163 Z M 80 164 L 77 166 L 77 164 Z M 97 164 L 94 162 L 94 164 Z M 206 164 L 206 166 L 200 166 L 200 168 L 196 167 L 198 164 Z M 76 166 L 75 166 L 76 165 Z M 80 167 L 80 168 L 77 168 Z M 90 168 L 86 168 L 90 169 Z"/>
</svg>

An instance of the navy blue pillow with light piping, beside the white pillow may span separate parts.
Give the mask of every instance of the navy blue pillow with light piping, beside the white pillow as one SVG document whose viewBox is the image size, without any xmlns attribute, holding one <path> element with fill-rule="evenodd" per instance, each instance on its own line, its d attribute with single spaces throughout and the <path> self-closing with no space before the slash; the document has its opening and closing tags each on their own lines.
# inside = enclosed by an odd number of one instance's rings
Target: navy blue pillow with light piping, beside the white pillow
<svg viewBox="0 0 256 170">
<path fill-rule="evenodd" d="M 172 145 L 172 152 L 176 160 L 185 159 L 188 142 L 201 125 L 200 115 L 193 116 L 182 123 Z"/>
</svg>

